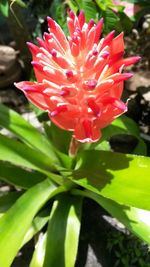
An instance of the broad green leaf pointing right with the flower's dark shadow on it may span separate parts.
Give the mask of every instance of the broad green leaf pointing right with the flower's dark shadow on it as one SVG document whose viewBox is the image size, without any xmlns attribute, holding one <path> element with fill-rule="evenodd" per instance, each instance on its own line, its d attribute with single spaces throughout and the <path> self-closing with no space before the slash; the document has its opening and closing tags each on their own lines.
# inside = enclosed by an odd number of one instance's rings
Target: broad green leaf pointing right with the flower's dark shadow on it
<svg viewBox="0 0 150 267">
<path fill-rule="evenodd" d="M 78 185 L 127 206 L 150 210 L 150 158 L 85 151 L 68 176 Z"/>
</svg>

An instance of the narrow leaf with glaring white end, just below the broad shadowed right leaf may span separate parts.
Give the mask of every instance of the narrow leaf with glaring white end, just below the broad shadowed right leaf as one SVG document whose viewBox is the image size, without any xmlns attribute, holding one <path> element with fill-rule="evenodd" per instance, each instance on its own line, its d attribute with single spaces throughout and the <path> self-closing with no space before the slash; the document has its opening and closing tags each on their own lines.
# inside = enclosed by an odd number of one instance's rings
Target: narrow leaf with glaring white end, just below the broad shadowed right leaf
<svg viewBox="0 0 150 267">
<path fill-rule="evenodd" d="M 80 192 L 74 193 L 78 194 Z M 132 233 L 150 244 L 150 211 L 119 205 L 113 200 L 104 198 L 90 191 L 81 192 L 81 195 L 95 200 L 113 217 L 116 217 L 123 223 Z"/>
</svg>

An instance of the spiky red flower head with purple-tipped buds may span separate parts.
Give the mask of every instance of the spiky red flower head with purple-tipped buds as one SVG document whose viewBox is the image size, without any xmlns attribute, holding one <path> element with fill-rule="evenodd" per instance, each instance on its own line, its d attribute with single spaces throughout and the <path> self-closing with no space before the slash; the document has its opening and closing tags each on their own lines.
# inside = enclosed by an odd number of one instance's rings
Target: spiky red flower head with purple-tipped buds
<svg viewBox="0 0 150 267">
<path fill-rule="evenodd" d="M 113 31 L 99 41 L 103 19 L 86 23 L 83 11 L 78 17 L 70 11 L 68 39 L 53 19 L 47 20 L 49 33 L 38 38 L 39 46 L 28 43 L 37 82 L 16 87 L 77 140 L 95 142 L 100 129 L 127 110 L 120 97 L 132 74 L 122 70 L 139 57 L 123 58 L 123 33 L 115 37 Z"/>
</svg>

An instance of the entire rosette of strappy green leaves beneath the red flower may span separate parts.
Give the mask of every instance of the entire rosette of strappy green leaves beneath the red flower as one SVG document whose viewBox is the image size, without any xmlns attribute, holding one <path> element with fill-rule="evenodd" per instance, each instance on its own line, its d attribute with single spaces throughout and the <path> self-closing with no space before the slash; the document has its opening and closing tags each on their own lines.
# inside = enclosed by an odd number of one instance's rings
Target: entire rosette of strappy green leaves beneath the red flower
<svg viewBox="0 0 150 267">
<path fill-rule="evenodd" d="M 150 159 L 109 151 L 110 137 L 119 133 L 136 137 L 136 151 L 146 153 L 132 120 L 117 119 L 103 130 L 100 142 L 82 145 L 74 158 L 68 155 L 71 134 L 53 124 L 45 122 L 41 133 L 0 105 L 0 125 L 12 136 L 0 134 L 0 179 L 20 190 L 0 196 L 0 266 L 11 266 L 20 248 L 42 233 L 30 267 L 58 266 L 58 260 L 73 267 L 83 197 L 150 243 Z"/>
</svg>

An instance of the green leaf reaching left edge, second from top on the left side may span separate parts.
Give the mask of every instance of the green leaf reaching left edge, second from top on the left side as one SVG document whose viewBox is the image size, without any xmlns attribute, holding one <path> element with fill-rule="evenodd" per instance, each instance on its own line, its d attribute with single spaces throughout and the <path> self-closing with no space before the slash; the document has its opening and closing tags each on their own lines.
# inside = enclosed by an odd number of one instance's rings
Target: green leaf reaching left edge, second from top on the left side
<svg viewBox="0 0 150 267">
<path fill-rule="evenodd" d="M 0 134 L 0 160 L 39 171 L 54 170 L 53 162 L 43 153 Z"/>
</svg>

